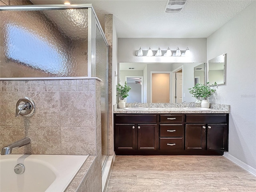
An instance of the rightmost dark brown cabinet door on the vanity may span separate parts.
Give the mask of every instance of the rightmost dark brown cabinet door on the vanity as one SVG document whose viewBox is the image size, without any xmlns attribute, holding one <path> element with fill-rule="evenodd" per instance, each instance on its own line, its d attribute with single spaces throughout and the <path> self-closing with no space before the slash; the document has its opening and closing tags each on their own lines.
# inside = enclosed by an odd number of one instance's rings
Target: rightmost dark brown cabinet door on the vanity
<svg viewBox="0 0 256 192">
<path fill-rule="evenodd" d="M 207 150 L 228 150 L 227 124 L 207 124 Z"/>
</svg>

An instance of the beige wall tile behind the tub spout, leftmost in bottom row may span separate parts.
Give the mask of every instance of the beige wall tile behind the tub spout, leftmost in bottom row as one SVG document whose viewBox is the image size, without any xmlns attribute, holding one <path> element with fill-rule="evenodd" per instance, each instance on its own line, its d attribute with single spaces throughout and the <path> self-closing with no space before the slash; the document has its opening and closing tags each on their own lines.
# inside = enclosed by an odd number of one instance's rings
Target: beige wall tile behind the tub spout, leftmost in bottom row
<svg viewBox="0 0 256 192">
<path fill-rule="evenodd" d="M 0 127 L 0 148 L 26 137 L 24 126 L 1 126 Z M 24 147 L 12 150 L 12 154 L 24 154 Z"/>
</svg>

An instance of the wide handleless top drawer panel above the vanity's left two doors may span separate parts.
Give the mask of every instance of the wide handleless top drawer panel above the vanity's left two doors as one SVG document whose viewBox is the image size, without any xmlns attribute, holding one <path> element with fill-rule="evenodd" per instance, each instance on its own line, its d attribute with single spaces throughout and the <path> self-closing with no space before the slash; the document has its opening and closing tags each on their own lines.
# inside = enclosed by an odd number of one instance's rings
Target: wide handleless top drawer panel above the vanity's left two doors
<svg viewBox="0 0 256 192">
<path fill-rule="evenodd" d="M 156 114 L 115 114 L 115 123 L 130 123 L 130 122 L 146 122 L 146 123 L 156 123 Z"/>
</svg>

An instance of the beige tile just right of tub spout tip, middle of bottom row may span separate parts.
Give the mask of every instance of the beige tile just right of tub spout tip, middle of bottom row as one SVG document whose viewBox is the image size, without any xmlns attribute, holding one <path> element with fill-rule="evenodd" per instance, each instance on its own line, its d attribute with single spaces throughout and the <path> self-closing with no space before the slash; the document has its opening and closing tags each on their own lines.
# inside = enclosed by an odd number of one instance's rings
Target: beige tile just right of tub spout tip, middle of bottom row
<svg viewBox="0 0 256 192">
<path fill-rule="evenodd" d="M 31 138 L 27 153 L 31 154 L 61 154 L 60 127 L 29 126 L 26 130 Z"/>
</svg>

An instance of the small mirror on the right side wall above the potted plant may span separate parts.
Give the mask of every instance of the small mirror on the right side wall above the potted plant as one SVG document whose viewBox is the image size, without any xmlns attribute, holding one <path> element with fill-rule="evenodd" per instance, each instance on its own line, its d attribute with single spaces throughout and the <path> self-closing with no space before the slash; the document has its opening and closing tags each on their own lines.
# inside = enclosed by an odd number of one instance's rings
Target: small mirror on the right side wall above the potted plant
<svg viewBox="0 0 256 192">
<path fill-rule="evenodd" d="M 223 85 L 226 82 L 226 54 L 222 54 L 208 61 L 208 78 L 210 85 L 215 82 Z"/>
</svg>

